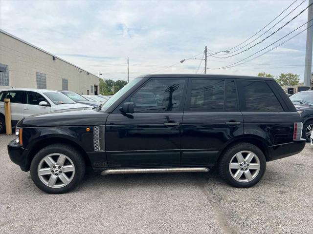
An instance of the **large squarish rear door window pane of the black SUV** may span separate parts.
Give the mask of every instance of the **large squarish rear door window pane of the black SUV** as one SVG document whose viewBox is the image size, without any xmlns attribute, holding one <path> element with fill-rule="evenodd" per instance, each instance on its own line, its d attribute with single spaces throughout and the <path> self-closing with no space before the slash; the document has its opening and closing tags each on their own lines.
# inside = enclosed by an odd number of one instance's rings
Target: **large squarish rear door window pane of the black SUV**
<svg viewBox="0 0 313 234">
<path fill-rule="evenodd" d="M 223 111 L 224 79 L 192 79 L 188 102 L 188 111 Z"/>
</svg>

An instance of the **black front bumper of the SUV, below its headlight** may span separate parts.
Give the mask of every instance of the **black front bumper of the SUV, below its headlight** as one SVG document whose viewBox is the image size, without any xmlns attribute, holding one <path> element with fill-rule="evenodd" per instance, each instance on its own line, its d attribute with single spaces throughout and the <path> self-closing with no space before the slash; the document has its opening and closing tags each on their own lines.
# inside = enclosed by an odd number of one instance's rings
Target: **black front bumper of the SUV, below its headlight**
<svg viewBox="0 0 313 234">
<path fill-rule="evenodd" d="M 17 145 L 15 140 L 12 140 L 8 143 L 8 153 L 11 161 L 19 165 L 22 171 L 29 171 L 29 167 L 26 165 L 28 150 L 24 149 L 20 145 Z"/>
</svg>

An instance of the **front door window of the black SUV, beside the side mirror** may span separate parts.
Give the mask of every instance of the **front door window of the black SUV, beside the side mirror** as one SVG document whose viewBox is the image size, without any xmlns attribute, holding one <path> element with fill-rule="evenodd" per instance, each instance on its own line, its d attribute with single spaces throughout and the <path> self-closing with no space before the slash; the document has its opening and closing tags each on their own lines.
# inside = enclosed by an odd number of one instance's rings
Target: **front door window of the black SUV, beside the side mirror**
<svg viewBox="0 0 313 234">
<path fill-rule="evenodd" d="M 184 79 L 151 79 L 129 101 L 134 102 L 134 112 L 179 111 Z"/>
</svg>

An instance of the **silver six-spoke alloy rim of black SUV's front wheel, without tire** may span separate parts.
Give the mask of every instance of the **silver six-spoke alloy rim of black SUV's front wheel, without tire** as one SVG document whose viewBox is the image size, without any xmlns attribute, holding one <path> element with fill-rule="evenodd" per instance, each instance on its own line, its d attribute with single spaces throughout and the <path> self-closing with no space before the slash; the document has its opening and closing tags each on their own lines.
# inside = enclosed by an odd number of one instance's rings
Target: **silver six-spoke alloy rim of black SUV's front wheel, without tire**
<svg viewBox="0 0 313 234">
<path fill-rule="evenodd" d="M 37 173 L 46 186 L 62 188 L 72 181 L 75 166 L 68 156 L 55 153 L 45 156 L 40 161 Z"/>
</svg>

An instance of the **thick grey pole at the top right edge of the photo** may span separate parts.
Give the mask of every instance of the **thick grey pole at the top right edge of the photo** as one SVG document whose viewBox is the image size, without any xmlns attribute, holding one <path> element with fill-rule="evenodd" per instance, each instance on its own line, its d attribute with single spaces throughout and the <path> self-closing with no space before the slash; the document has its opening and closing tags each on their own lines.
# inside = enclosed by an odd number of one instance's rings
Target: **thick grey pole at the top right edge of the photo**
<svg viewBox="0 0 313 234">
<path fill-rule="evenodd" d="M 313 0 L 309 0 L 309 5 Z M 313 5 L 308 8 L 308 21 L 313 19 Z M 304 67 L 304 85 L 310 87 L 312 77 L 312 46 L 313 46 L 313 21 L 308 22 L 307 27 L 307 46 L 305 50 L 305 67 Z M 309 28 L 310 27 L 310 28 Z"/>
</svg>

